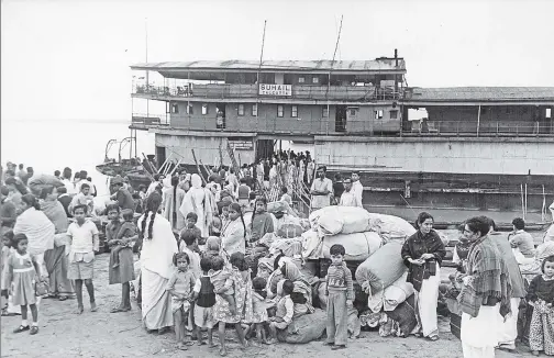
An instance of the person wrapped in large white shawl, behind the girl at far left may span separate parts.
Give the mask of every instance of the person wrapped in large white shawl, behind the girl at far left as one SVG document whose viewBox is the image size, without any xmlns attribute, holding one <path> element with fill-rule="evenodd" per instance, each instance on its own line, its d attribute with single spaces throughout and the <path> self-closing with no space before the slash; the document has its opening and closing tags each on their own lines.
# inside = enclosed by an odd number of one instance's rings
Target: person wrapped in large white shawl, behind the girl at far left
<svg viewBox="0 0 554 358">
<path fill-rule="evenodd" d="M 29 239 L 27 251 L 40 265 L 43 276 L 47 275 L 44 253 L 54 248 L 55 226 L 41 211 L 41 205 L 33 194 L 21 198 L 21 214 L 15 221 L 13 234 L 25 234 Z"/>
</svg>

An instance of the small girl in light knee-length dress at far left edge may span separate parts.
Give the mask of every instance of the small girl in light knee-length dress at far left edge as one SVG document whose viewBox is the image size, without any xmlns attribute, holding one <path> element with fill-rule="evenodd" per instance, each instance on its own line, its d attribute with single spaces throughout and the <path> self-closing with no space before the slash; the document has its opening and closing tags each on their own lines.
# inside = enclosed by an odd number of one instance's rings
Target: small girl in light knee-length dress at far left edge
<svg viewBox="0 0 554 358">
<path fill-rule="evenodd" d="M 38 309 L 36 307 L 35 284 L 41 276 L 41 266 L 27 253 L 27 237 L 18 234 L 13 238 L 16 251 L 8 258 L 4 272 L 2 294 L 13 284 L 13 304 L 21 305 L 21 325 L 13 333 L 30 331 L 31 335 L 38 333 Z M 32 327 L 27 324 L 27 305 L 33 317 Z"/>
</svg>

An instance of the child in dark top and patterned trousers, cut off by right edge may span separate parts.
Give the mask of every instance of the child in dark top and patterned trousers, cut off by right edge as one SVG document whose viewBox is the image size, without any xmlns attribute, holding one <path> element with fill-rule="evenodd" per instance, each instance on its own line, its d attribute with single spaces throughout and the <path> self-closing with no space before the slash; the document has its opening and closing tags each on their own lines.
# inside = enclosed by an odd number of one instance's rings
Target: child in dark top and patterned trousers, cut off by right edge
<svg viewBox="0 0 554 358">
<path fill-rule="evenodd" d="M 527 295 L 534 306 L 529 346 L 533 356 L 539 356 L 540 350 L 554 356 L 554 256 L 544 259 L 542 272 L 531 281 Z"/>
</svg>

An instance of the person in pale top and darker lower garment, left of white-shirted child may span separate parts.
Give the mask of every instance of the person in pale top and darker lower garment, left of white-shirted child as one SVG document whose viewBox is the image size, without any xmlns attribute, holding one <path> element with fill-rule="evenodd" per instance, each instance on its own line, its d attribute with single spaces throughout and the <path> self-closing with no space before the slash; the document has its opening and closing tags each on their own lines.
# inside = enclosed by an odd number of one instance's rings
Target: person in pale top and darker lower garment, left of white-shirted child
<svg viewBox="0 0 554 358">
<path fill-rule="evenodd" d="M 64 205 L 57 200 L 54 187 L 44 188 L 41 192 L 41 211 L 54 224 L 54 248 L 44 253 L 44 262 L 49 276 L 49 298 L 65 301 L 74 294 L 73 281 L 67 278 L 69 262 L 66 256 L 67 226 L 69 222 Z"/>
</svg>

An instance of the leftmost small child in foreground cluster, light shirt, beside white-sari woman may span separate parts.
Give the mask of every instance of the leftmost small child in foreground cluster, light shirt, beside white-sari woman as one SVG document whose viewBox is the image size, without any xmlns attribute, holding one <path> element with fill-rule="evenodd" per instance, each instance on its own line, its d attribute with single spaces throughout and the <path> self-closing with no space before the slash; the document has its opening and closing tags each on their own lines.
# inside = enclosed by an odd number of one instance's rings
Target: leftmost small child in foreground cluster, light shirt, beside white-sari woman
<svg viewBox="0 0 554 358">
<path fill-rule="evenodd" d="M 166 290 L 171 294 L 171 311 L 174 314 L 177 348 L 187 350 L 185 326 L 190 310 L 190 302 L 192 301 L 192 289 L 196 279 L 189 270 L 190 259 L 187 254 L 175 254 L 173 261 L 176 270 L 167 282 Z"/>
</svg>

